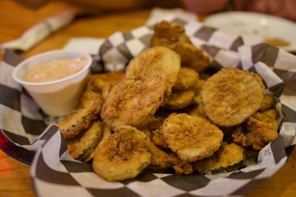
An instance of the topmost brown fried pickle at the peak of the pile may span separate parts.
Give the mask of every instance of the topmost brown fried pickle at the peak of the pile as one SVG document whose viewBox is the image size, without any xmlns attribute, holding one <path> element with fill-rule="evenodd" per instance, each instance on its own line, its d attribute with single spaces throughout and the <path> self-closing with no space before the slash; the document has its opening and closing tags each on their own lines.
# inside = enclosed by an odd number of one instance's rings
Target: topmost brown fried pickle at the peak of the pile
<svg viewBox="0 0 296 197">
<path fill-rule="evenodd" d="M 166 46 L 176 41 L 191 43 L 182 25 L 162 21 L 154 26 L 154 34 L 150 43 L 151 47 L 157 45 Z"/>
</svg>

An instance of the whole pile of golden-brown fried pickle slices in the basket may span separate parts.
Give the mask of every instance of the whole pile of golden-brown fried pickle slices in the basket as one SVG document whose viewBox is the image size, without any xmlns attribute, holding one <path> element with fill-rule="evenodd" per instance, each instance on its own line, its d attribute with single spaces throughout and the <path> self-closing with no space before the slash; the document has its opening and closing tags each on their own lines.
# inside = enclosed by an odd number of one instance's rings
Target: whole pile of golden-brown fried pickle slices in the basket
<svg viewBox="0 0 296 197">
<path fill-rule="evenodd" d="M 69 154 L 108 181 L 244 167 L 278 136 L 261 77 L 231 67 L 210 76 L 211 57 L 183 26 L 162 21 L 154 31 L 125 73 L 89 77 L 79 108 L 59 123 Z"/>
</svg>

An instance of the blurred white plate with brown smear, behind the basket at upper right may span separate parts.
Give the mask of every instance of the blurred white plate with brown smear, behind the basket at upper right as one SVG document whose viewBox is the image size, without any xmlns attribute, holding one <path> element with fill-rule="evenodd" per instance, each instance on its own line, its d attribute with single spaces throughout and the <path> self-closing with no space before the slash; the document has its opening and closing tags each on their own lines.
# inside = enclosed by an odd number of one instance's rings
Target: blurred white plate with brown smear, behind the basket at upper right
<svg viewBox="0 0 296 197">
<path fill-rule="evenodd" d="M 290 45 L 279 48 L 296 51 L 296 23 L 287 19 L 255 12 L 223 12 L 209 16 L 204 24 L 240 34 L 247 45 L 281 38 Z"/>
</svg>

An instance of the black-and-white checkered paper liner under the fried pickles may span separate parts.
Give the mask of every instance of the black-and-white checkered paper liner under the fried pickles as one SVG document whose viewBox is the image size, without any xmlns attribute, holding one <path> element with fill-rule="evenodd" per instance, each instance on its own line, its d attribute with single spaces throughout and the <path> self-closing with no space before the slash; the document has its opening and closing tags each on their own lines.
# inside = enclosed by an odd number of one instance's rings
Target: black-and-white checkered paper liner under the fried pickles
<svg viewBox="0 0 296 197">
<path fill-rule="evenodd" d="M 31 169 L 37 196 L 242 196 L 285 164 L 287 152 L 296 144 L 296 57 L 266 44 L 245 46 L 240 36 L 204 27 L 196 21 L 173 16 L 167 20 L 185 25 L 192 42 L 211 56 L 211 67 L 233 66 L 261 75 L 267 94 L 277 101 L 280 136 L 259 152 L 256 164 L 234 172 L 140 174 L 131 180 L 108 182 L 97 176 L 91 165 L 69 156 L 58 127 L 50 124 L 56 119 L 44 115 L 28 93 L 12 80 L 12 69 L 22 59 L 6 51 L 0 64 L 0 128 L 15 145 L 37 151 Z M 100 48 L 103 64 L 92 70 L 125 69 L 131 58 L 149 48 L 152 33 L 152 26 L 114 33 Z"/>
</svg>

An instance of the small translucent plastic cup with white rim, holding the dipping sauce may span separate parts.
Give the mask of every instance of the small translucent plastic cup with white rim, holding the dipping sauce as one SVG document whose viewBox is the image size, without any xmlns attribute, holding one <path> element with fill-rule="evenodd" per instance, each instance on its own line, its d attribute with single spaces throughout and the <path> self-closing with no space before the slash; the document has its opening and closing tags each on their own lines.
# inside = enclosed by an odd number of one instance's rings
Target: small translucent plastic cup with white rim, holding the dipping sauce
<svg viewBox="0 0 296 197">
<path fill-rule="evenodd" d="M 75 59 L 80 56 L 85 56 L 88 61 L 80 71 L 73 75 L 49 82 L 27 82 L 23 80 L 24 75 L 36 66 L 52 60 Z M 92 58 L 88 54 L 53 50 L 24 60 L 14 68 L 12 77 L 28 91 L 46 114 L 65 116 L 79 104 L 91 63 Z"/>
</svg>

